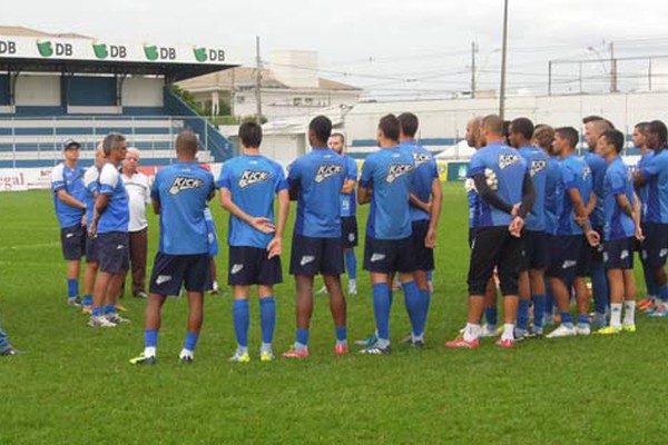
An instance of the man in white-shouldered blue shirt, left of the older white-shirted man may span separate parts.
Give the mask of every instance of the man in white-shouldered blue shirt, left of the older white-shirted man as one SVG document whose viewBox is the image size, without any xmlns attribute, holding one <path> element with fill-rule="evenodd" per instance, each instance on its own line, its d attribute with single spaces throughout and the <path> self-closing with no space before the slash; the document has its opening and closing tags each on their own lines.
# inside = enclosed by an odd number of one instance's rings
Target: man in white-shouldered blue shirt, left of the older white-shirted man
<svg viewBox="0 0 668 445">
<path fill-rule="evenodd" d="M 127 152 L 126 138 L 117 132 L 109 134 L 102 141 L 102 148 L 106 162 L 100 170 L 92 222 L 88 229 L 91 237 L 97 237 L 99 251 L 99 269 L 88 322 L 90 327 L 115 327 L 128 322 L 116 312 L 116 301 L 129 266 L 128 194 L 118 172 Z"/>
</svg>

